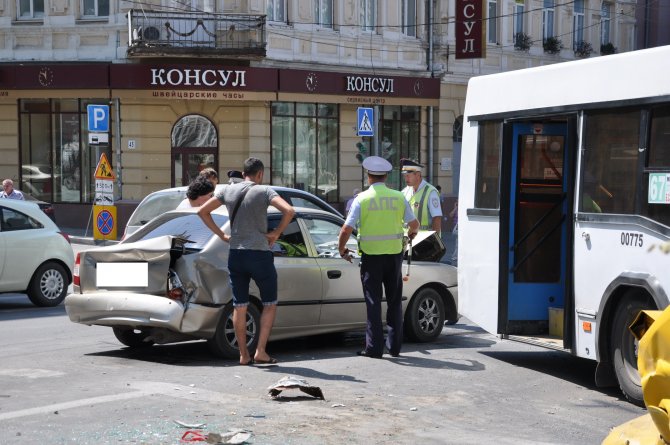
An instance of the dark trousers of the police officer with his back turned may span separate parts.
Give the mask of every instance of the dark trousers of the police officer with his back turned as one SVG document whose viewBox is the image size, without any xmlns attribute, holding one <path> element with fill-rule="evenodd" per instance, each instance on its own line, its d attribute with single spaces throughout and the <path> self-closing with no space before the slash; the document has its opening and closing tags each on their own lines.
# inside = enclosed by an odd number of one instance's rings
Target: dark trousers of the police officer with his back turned
<svg viewBox="0 0 670 445">
<path fill-rule="evenodd" d="M 366 353 L 379 356 L 384 346 L 393 355 L 402 346 L 402 253 L 361 256 L 361 282 L 367 309 Z M 383 292 L 382 292 L 383 289 Z M 386 295 L 386 329 L 382 324 L 382 297 Z"/>
</svg>

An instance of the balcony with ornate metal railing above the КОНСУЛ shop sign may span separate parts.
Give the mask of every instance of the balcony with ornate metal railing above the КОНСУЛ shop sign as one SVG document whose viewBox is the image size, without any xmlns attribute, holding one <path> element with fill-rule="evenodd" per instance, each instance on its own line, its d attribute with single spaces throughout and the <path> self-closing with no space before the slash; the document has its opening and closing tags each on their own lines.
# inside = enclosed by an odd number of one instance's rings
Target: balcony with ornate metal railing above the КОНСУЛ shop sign
<svg viewBox="0 0 670 445">
<path fill-rule="evenodd" d="M 128 11 L 128 57 L 265 57 L 265 15 Z"/>
</svg>

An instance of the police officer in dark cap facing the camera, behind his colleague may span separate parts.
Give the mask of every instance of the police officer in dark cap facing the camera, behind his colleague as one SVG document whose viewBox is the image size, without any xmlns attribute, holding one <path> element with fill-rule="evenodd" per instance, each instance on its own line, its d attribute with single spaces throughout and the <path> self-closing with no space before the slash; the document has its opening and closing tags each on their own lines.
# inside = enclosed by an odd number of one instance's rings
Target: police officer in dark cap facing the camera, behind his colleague
<svg viewBox="0 0 670 445">
<path fill-rule="evenodd" d="M 421 177 L 423 165 L 410 159 L 402 159 L 400 164 L 407 184 L 402 193 L 419 220 L 420 230 L 434 230 L 440 236 L 442 231 L 440 193 Z"/>
</svg>

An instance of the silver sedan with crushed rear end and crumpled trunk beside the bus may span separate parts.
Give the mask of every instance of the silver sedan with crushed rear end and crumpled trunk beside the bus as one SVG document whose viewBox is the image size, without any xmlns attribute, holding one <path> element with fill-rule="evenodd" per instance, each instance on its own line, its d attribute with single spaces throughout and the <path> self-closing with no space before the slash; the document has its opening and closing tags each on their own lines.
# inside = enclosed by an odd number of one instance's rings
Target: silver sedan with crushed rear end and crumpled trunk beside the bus
<svg viewBox="0 0 670 445">
<path fill-rule="evenodd" d="M 238 357 L 228 243 L 205 227 L 196 210 L 165 213 L 119 244 L 79 253 L 74 292 L 65 299 L 70 320 L 109 326 L 131 348 L 207 340 L 216 355 Z M 212 216 L 228 233 L 225 206 Z M 280 219 L 270 208 L 269 228 Z M 270 340 L 365 329 L 360 259 L 344 261 L 337 249 L 343 223 L 328 212 L 296 208 L 273 246 L 279 304 Z M 350 243 L 355 251 L 355 238 Z M 458 319 L 456 269 L 439 263 L 443 253 L 436 236 L 415 240 L 409 271 L 404 266 L 405 332 L 412 341 L 431 341 L 445 319 Z M 253 350 L 262 310 L 253 282 L 250 295 L 247 340 Z"/>
</svg>

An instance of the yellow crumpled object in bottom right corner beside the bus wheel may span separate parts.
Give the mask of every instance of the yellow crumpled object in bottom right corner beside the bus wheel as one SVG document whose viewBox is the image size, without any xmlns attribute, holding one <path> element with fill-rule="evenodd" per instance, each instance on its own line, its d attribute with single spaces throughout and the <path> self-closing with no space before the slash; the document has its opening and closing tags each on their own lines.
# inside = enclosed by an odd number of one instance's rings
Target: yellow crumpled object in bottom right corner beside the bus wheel
<svg viewBox="0 0 670 445">
<path fill-rule="evenodd" d="M 637 367 L 648 413 L 614 428 L 603 445 L 670 443 L 670 307 L 641 311 L 630 330 L 639 340 Z"/>
</svg>

